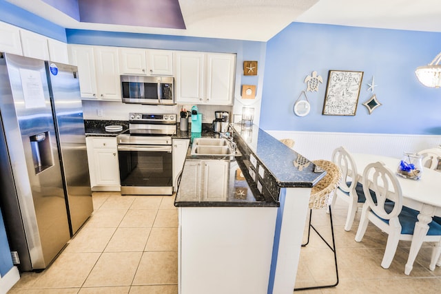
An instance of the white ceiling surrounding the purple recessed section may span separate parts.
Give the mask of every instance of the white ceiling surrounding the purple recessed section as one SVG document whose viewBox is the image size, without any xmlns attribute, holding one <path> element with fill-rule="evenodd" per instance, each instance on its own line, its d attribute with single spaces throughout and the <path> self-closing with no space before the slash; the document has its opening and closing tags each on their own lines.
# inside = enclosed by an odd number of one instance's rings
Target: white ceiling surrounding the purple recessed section
<svg viewBox="0 0 441 294">
<path fill-rule="evenodd" d="M 83 30 L 268 41 L 299 21 L 441 32 L 440 0 L 179 0 L 186 30 L 80 23 L 41 0 L 7 1 L 63 28 Z"/>
</svg>

